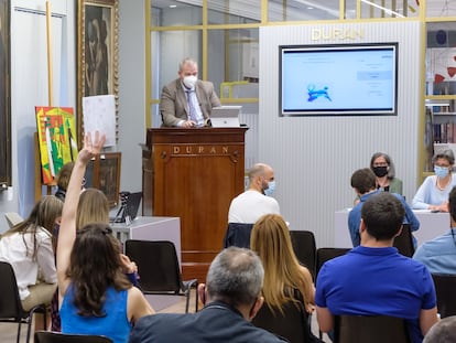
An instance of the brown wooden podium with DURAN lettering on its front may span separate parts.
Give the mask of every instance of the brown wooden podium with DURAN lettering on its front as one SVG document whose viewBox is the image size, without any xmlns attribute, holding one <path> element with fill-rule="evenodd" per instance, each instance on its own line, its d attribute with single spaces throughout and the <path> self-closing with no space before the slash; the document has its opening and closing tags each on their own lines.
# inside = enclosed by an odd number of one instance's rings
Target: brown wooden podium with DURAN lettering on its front
<svg viewBox="0 0 456 343">
<path fill-rule="evenodd" d="M 185 279 L 204 282 L 210 261 L 222 248 L 229 204 L 243 192 L 246 130 L 146 130 L 143 215 L 181 218 Z"/>
</svg>

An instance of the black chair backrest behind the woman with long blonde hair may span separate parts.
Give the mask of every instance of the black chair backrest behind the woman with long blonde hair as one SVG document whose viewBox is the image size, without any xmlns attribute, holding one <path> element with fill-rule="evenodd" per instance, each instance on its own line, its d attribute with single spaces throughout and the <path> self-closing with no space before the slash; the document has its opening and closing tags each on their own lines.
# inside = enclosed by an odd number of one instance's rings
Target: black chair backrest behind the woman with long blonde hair
<svg viewBox="0 0 456 343">
<path fill-rule="evenodd" d="M 286 339 L 290 343 L 310 342 L 307 313 L 301 302 L 290 301 L 283 314 L 274 312 L 264 303 L 252 320 L 252 324 Z"/>
</svg>

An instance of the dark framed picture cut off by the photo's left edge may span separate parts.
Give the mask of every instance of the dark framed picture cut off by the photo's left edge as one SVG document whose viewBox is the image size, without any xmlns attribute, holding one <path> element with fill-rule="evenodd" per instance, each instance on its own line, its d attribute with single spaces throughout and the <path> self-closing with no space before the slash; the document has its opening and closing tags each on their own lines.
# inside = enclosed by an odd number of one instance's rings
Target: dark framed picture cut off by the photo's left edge
<svg viewBox="0 0 456 343">
<path fill-rule="evenodd" d="M 0 0 L 0 191 L 11 185 L 10 0 Z"/>
</svg>

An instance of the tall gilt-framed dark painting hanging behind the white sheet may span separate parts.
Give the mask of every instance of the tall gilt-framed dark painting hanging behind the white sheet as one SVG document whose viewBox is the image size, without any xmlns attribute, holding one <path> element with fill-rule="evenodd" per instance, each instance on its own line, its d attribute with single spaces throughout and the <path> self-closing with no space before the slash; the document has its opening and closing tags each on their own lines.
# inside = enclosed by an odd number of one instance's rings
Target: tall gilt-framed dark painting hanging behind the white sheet
<svg viewBox="0 0 456 343">
<path fill-rule="evenodd" d="M 113 95 L 118 122 L 119 1 L 78 1 L 77 130 L 84 137 L 83 97 Z M 117 139 L 117 135 L 116 135 Z"/>
</svg>

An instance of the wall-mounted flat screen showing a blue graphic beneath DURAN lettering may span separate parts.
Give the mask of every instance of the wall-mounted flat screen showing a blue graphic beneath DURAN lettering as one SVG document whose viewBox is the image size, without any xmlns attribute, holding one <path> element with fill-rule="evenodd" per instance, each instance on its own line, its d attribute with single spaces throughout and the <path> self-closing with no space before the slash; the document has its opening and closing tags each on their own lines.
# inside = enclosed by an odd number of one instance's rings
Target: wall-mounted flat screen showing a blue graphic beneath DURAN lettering
<svg viewBox="0 0 456 343">
<path fill-rule="evenodd" d="M 398 43 L 279 51 L 281 116 L 397 115 Z"/>
</svg>

